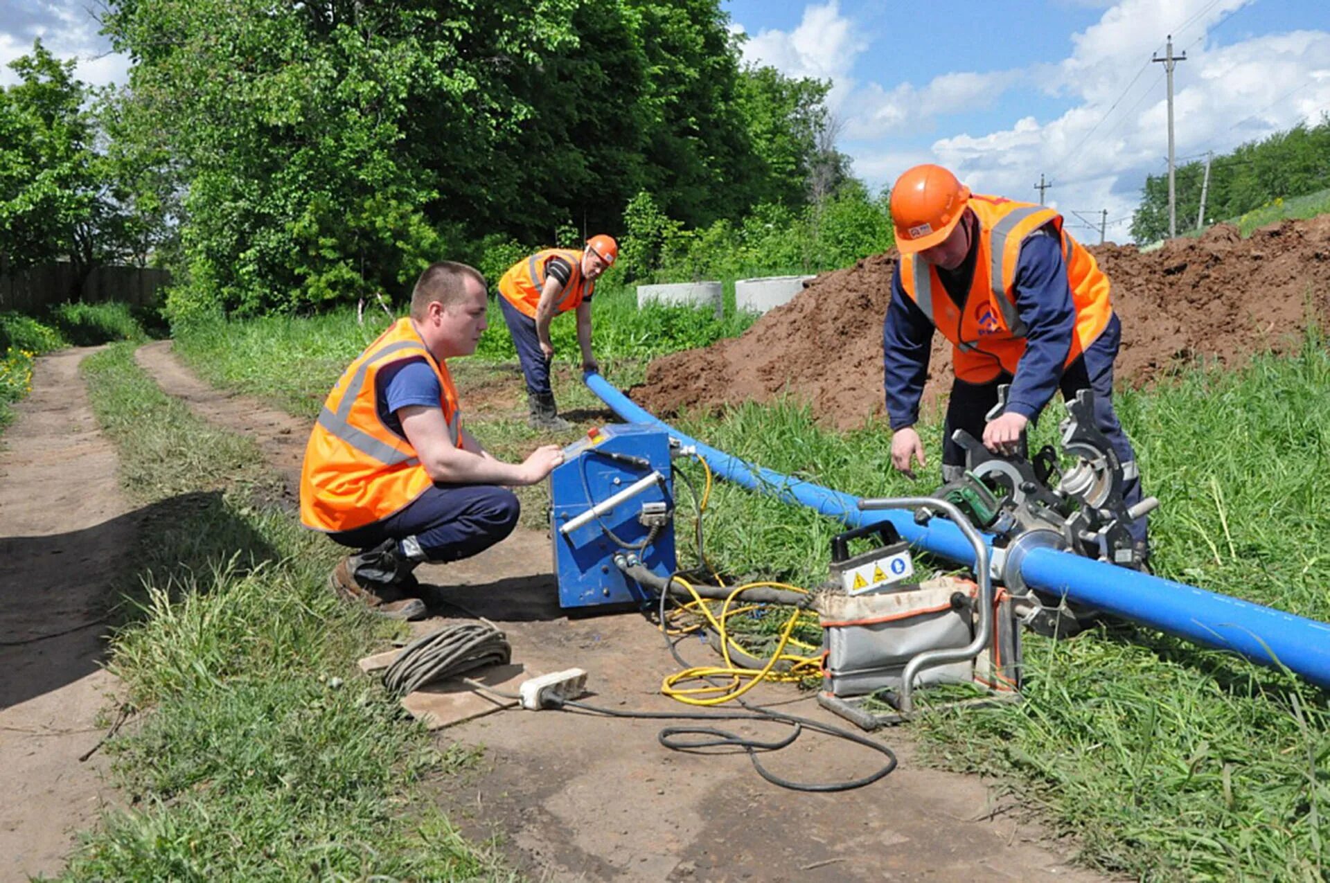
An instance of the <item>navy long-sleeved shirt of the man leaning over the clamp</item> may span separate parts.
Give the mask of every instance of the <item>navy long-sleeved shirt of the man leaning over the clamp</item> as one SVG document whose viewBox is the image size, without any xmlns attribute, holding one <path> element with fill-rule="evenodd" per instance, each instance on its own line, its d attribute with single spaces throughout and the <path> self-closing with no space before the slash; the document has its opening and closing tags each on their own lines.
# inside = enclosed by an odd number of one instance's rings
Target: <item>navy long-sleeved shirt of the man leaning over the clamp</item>
<svg viewBox="0 0 1330 883">
<path fill-rule="evenodd" d="M 956 273 L 939 273 L 943 287 L 960 303 L 974 274 L 974 255 Z M 1076 306 L 1063 261 L 1061 238 L 1040 227 L 1020 246 L 1016 262 L 1016 313 L 1025 323 L 1025 352 L 1007 396 L 1007 411 L 1033 419 L 1057 391 L 1076 330 Z M 928 376 L 932 322 L 900 283 L 900 265 L 891 279 L 891 305 L 882 323 L 882 370 L 891 428 L 919 420 L 919 398 Z M 994 356 L 996 359 L 996 356 Z"/>
</svg>

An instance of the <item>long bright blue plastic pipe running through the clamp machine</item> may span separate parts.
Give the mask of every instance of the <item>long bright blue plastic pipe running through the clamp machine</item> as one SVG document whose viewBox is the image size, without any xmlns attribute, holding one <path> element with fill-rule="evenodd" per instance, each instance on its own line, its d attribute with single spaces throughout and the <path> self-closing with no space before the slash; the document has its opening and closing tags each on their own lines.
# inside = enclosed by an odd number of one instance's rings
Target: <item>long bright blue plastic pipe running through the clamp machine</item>
<svg viewBox="0 0 1330 883">
<path fill-rule="evenodd" d="M 960 529 L 944 519 L 915 523 L 903 511 L 863 512 L 858 497 L 763 469 L 702 444 L 634 404 L 598 374 L 587 386 L 630 423 L 650 423 L 686 445 L 696 445 L 721 477 L 786 503 L 806 505 L 851 528 L 890 521 L 912 545 L 960 564 L 974 565 L 975 553 Z M 991 540 L 990 540 L 991 541 Z M 1273 668 L 1286 668 L 1322 688 L 1330 688 L 1330 625 L 1274 608 L 1208 592 L 1185 582 L 1095 561 L 1071 552 L 1031 549 L 1020 565 L 1031 588 L 1105 610 L 1176 634 L 1196 644 L 1233 650 Z"/>
</svg>

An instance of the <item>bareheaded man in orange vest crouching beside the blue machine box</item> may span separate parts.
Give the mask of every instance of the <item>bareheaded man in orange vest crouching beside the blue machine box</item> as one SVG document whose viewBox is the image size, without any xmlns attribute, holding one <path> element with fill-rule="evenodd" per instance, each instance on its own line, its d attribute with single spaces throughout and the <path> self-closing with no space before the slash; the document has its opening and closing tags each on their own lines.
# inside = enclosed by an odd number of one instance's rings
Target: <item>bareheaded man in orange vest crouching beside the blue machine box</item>
<svg viewBox="0 0 1330 883">
<path fill-rule="evenodd" d="M 475 352 L 485 307 L 477 270 L 430 265 L 410 318 L 342 374 L 305 448 L 301 520 L 358 549 L 330 582 L 390 618 L 426 614 L 411 574 L 418 564 L 458 561 L 512 533 L 519 504 L 503 485 L 535 484 L 563 461 L 547 444 L 524 463 L 503 463 L 462 424 L 446 359 Z"/>
</svg>

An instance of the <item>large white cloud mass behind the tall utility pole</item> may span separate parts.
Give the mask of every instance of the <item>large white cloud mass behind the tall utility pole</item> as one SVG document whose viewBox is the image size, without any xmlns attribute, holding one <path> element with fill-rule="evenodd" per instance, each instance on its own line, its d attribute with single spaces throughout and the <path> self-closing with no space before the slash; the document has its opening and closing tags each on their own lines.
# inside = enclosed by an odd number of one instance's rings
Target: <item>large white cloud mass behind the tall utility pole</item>
<svg viewBox="0 0 1330 883">
<path fill-rule="evenodd" d="M 1174 53 L 1186 51 L 1186 61 L 1174 72 L 1180 162 L 1209 149 L 1232 150 L 1302 121 L 1317 122 L 1330 110 L 1330 32 L 1264 35 L 1217 45 L 1210 32 L 1248 3 L 1124 0 L 1073 35 L 1072 55 L 1057 65 L 948 73 L 918 90 L 910 84 L 866 86 L 861 94 L 871 100 L 863 102 L 847 133 L 876 137 L 876 144 L 853 150 L 855 170 L 870 184 L 890 184 L 907 166 L 892 166 L 904 152 L 884 136 L 892 126 L 920 130 L 926 106 L 960 112 L 970 102 L 991 101 L 994 89 L 1052 82 L 1060 94 L 1077 100 L 1076 106 L 1045 122 L 1024 117 L 1008 129 L 950 134 L 935 141 L 923 160 L 951 166 L 978 191 L 1017 199 L 1036 201 L 1035 184 L 1044 173 L 1053 182 L 1047 191 L 1051 205 L 1089 214 L 1096 222 L 1108 209 L 1108 235 L 1124 241 L 1145 176 L 1166 170 L 1164 65 L 1149 60 L 1160 40 L 1158 23 L 1174 27 Z M 1162 49 L 1160 43 L 1161 55 Z M 1097 230 L 1076 233 L 1097 239 Z"/>
</svg>

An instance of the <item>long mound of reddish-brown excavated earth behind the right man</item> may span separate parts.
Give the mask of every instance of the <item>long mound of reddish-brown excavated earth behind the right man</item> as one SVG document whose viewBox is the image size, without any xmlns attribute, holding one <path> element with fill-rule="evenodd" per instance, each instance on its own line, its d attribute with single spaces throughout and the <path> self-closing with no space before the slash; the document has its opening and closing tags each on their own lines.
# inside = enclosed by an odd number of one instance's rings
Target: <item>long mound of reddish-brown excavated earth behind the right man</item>
<svg viewBox="0 0 1330 883">
<path fill-rule="evenodd" d="M 1242 239 L 1218 225 L 1158 250 L 1091 247 L 1123 319 L 1117 382 L 1141 386 L 1196 360 L 1236 367 L 1253 352 L 1301 346 L 1330 309 L 1330 215 L 1282 221 Z M 882 319 L 895 250 L 814 279 L 742 336 L 653 362 L 633 400 L 670 416 L 781 394 L 806 399 L 837 428 L 883 414 Z M 951 347 L 934 335 L 924 407 L 946 394 Z"/>
</svg>

